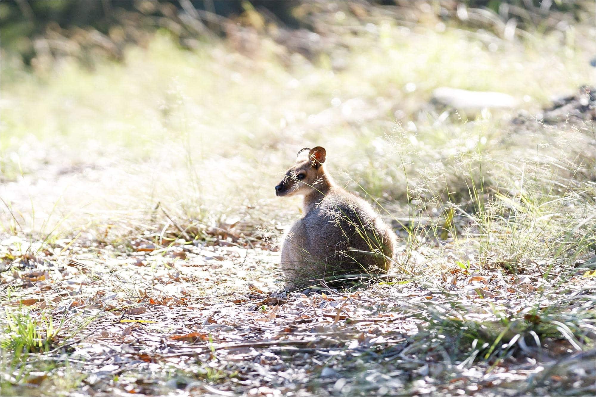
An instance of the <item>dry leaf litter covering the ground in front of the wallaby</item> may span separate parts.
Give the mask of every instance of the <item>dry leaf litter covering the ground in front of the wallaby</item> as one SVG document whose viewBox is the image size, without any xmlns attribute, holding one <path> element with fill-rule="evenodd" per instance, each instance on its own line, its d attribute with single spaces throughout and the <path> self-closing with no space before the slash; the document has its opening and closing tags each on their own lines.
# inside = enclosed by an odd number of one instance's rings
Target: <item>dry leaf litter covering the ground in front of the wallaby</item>
<svg viewBox="0 0 596 397">
<path fill-rule="evenodd" d="M 23 262 L 15 252 L 27 242 L 5 239 L 5 310 L 60 324 L 49 349 L 5 380 L 18 383 L 43 358 L 82 374 L 80 395 L 495 395 L 594 385 L 585 364 L 594 318 L 585 313 L 595 282 L 581 269 L 558 289 L 539 265 L 520 275 L 454 262 L 439 280 L 288 292 L 279 252 L 218 243 L 132 242 L 118 252 L 75 242 Z M 550 311 L 561 306 L 583 317 L 557 321 Z M 48 377 L 30 371 L 26 385 Z"/>
</svg>

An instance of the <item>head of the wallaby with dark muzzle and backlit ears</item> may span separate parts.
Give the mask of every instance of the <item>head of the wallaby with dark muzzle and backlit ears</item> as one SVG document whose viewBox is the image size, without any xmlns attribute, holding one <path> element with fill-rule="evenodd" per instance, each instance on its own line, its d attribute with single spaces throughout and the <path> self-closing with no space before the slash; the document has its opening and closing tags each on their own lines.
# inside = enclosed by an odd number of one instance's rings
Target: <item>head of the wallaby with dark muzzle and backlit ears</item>
<svg viewBox="0 0 596 397">
<path fill-rule="evenodd" d="M 308 157 L 305 156 L 306 152 Z M 325 149 L 321 146 L 300 149 L 296 155 L 296 164 L 286 171 L 284 179 L 275 186 L 275 195 L 280 197 L 306 195 L 314 190 L 320 190 L 325 155 Z"/>
</svg>

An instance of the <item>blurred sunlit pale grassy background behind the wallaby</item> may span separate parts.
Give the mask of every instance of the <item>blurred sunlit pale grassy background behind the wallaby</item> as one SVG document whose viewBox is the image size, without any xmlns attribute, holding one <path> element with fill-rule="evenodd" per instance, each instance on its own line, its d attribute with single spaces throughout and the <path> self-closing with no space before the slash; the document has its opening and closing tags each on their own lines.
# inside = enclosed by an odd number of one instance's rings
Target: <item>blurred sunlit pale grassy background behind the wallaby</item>
<svg viewBox="0 0 596 397">
<path fill-rule="evenodd" d="M 111 241 L 159 228 L 159 204 L 185 225 L 240 215 L 259 235 L 300 211 L 272 187 L 311 145 L 394 218 L 592 186 L 591 127 L 511 124 L 593 84 L 589 4 L 209 7 L 2 2 L 5 229 Z M 437 107 L 442 86 L 519 109 Z"/>
</svg>

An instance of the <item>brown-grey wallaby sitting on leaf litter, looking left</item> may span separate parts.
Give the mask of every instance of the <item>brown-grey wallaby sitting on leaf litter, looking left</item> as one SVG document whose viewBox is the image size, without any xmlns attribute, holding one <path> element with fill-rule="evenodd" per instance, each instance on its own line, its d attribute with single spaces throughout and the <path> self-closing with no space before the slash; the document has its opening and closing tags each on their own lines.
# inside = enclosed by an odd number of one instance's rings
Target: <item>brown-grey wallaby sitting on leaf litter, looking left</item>
<svg viewBox="0 0 596 397">
<path fill-rule="evenodd" d="M 325 172 L 326 156 L 321 146 L 301 149 L 275 186 L 279 197 L 304 196 L 305 216 L 285 234 L 281 248 L 281 270 L 297 285 L 386 273 L 392 263 L 395 233 L 368 202 L 333 182 Z"/>
</svg>

